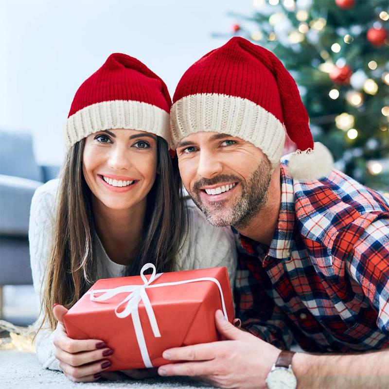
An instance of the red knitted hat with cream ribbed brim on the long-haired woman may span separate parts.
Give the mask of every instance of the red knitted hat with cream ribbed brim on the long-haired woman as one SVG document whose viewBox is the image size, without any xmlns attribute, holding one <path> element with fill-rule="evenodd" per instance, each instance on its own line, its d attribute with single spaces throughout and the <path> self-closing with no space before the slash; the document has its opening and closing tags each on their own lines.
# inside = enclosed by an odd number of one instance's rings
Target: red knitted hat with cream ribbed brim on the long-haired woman
<svg viewBox="0 0 389 389">
<path fill-rule="evenodd" d="M 151 132 L 170 144 L 171 104 L 165 83 L 141 61 L 111 54 L 74 96 L 65 128 L 66 147 L 112 128 Z"/>
</svg>

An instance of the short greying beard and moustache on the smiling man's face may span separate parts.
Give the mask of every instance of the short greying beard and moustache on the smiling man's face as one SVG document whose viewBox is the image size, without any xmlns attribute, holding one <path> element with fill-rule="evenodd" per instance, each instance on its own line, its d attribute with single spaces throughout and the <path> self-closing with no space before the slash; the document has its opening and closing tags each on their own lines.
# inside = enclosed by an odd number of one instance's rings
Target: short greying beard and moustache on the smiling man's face
<svg viewBox="0 0 389 389">
<path fill-rule="evenodd" d="M 247 182 L 241 181 L 237 176 L 219 175 L 210 179 L 203 178 L 195 182 L 193 191 L 188 192 L 197 207 L 213 226 L 234 226 L 241 230 L 247 227 L 252 218 L 264 208 L 267 201 L 270 179 L 270 163 L 264 158 Z M 207 208 L 207 205 L 201 199 L 200 188 L 225 182 L 239 183 L 242 188 L 241 196 L 228 208 L 225 206 L 225 202 L 228 200 L 211 202 L 212 208 Z"/>
</svg>

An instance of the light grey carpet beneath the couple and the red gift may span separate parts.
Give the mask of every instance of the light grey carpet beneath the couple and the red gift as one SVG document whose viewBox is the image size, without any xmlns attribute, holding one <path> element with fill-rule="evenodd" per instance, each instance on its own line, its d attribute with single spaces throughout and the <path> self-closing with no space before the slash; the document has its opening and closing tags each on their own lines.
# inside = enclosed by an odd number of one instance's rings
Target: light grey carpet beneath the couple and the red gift
<svg viewBox="0 0 389 389">
<path fill-rule="evenodd" d="M 42 369 L 33 353 L 14 350 L 0 351 L 0 389 L 155 389 L 203 388 L 206 384 L 189 377 L 156 377 L 136 381 L 99 380 L 91 383 L 74 383 L 59 371 Z"/>
</svg>

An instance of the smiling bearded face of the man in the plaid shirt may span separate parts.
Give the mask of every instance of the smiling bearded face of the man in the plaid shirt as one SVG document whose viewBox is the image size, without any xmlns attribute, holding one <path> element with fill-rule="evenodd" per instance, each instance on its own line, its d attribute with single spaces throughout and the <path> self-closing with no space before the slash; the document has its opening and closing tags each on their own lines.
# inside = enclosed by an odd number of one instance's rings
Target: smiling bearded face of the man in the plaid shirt
<svg viewBox="0 0 389 389">
<path fill-rule="evenodd" d="M 248 141 L 197 132 L 177 144 L 182 182 L 214 226 L 246 227 L 265 205 L 271 165 Z"/>
</svg>

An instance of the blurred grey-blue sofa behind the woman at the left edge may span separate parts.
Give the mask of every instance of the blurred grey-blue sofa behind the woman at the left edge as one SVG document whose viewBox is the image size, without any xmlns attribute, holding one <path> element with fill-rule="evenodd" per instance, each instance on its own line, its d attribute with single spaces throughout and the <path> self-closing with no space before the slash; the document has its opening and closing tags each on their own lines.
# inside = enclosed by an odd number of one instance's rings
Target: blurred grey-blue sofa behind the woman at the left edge
<svg viewBox="0 0 389 389">
<path fill-rule="evenodd" d="M 59 166 L 39 166 L 28 133 L 0 130 L 0 318 L 2 286 L 31 284 L 28 223 L 36 188 Z"/>
</svg>

